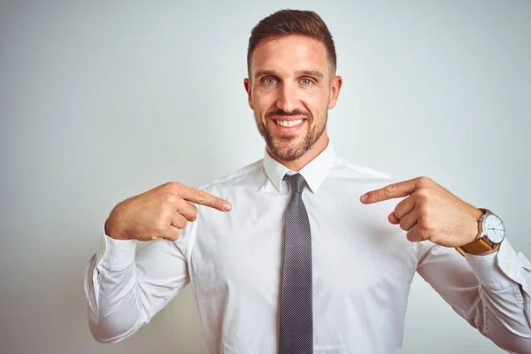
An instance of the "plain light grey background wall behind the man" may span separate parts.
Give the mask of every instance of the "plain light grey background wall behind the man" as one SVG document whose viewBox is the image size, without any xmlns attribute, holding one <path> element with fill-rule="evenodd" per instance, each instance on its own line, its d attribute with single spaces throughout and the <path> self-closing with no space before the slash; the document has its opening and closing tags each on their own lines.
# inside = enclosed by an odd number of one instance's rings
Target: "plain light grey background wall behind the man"
<svg viewBox="0 0 531 354">
<path fill-rule="evenodd" d="M 491 208 L 531 256 L 531 2 L 3 2 L 2 353 L 204 352 L 189 288 L 126 342 L 95 342 L 84 267 L 120 200 L 261 158 L 246 46 L 281 8 L 318 12 L 335 37 L 343 157 Z M 405 353 L 501 351 L 413 282 Z"/>
</svg>

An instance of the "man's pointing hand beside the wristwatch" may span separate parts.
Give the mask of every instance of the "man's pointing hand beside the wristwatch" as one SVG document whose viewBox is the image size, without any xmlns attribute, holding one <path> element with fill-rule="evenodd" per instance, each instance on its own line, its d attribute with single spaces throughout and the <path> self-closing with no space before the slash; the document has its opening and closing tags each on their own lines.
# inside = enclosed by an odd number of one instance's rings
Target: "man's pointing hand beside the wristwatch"
<svg viewBox="0 0 531 354">
<path fill-rule="evenodd" d="M 427 177 L 389 184 L 360 197 L 373 204 L 407 196 L 389 214 L 389 222 L 400 224 L 412 242 L 430 240 L 446 247 L 473 242 L 479 233 L 478 219 L 483 212 L 467 204 Z"/>
</svg>

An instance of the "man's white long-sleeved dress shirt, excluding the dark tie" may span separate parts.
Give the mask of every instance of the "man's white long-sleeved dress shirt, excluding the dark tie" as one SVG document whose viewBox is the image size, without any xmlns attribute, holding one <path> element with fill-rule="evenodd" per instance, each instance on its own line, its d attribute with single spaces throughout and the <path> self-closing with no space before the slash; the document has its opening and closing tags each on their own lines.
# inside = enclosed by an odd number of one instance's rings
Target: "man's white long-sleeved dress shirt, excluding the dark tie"
<svg viewBox="0 0 531 354">
<path fill-rule="evenodd" d="M 266 152 L 201 189 L 233 204 L 198 205 L 176 242 L 104 235 L 85 279 L 91 332 L 119 342 L 188 283 L 212 353 L 275 353 L 283 215 L 291 173 Z M 327 149 L 299 171 L 312 229 L 315 353 L 399 353 L 413 275 L 418 272 L 460 316 L 506 350 L 531 352 L 531 264 L 505 240 L 489 256 L 409 242 L 388 221 L 397 200 L 361 204 L 387 175 Z"/>
</svg>

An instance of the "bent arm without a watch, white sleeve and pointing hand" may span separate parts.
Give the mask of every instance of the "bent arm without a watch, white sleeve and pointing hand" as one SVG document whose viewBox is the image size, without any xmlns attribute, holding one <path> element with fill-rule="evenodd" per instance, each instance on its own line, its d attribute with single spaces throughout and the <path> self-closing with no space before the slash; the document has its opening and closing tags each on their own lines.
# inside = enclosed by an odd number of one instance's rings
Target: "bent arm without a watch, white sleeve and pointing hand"
<svg viewBox="0 0 531 354">
<path fill-rule="evenodd" d="M 227 201 L 174 182 L 114 207 L 103 247 L 85 274 L 90 330 L 98 342 L 133 335 L 189 283 L 185 256 L 197 225 L 192 203 L 230 210 Z M 138 241 L 150 243 L 135 258 Z"/>
</svg>

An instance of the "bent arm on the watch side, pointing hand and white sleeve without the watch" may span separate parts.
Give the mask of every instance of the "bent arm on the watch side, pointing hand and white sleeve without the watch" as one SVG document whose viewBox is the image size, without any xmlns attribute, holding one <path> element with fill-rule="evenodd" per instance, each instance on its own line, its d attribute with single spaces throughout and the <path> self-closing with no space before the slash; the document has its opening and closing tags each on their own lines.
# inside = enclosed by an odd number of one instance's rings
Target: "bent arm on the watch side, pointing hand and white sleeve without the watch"
<svg viewBox="0 0 531 354">
<path fill-rule="evenodd" d="M 360 201 L 372 204 L 399 197 L 405 198 L 388 219 L 406 231 L 409 241 L 418 242 L 419 274 L 497 345 L 531 353 L 527 258 L 506 241 L 494 253 L 459 255 L 454 248 L 469 245 L 481 235 L 478 220 L 483 212 L 427 177 L 369 191 Z"/>
</svg>

